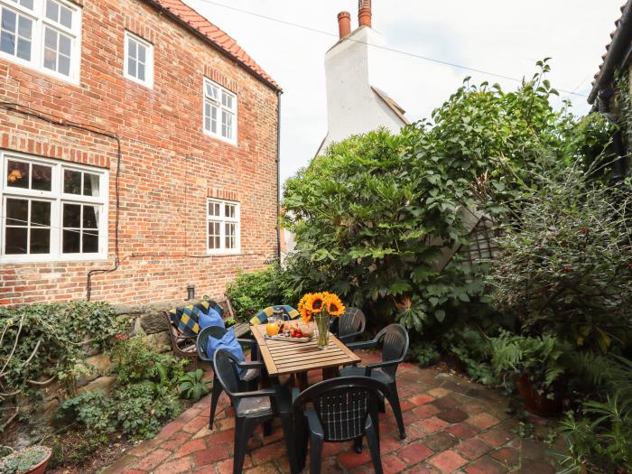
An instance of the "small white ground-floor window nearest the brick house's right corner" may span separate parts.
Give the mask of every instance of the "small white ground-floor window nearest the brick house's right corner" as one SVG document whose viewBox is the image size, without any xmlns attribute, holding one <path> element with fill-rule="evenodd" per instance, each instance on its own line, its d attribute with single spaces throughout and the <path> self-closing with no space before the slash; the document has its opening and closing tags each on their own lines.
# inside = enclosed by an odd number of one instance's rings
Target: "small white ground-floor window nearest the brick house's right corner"
<svg viewBox="0 0 632 474">
<path fill-rule="evenodd" d="M 241 250 L 239 203 L 232 200 L 207 202 L 207 250 L 209 254 L 237 254 Z"/>
</svg>

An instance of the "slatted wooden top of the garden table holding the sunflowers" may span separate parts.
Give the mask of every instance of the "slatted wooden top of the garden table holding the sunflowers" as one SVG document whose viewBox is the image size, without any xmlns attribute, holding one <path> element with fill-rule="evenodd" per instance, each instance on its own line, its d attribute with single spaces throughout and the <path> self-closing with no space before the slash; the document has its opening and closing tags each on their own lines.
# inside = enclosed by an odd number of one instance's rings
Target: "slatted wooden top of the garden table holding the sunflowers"
<svg viewBox="0 0 632 474">
<path fill-rule="evenodd" d="M 360 358 L 348 349 L 336 336 L 330 334 L 330 343 L 325 349 L 318 349 L 316 338 L 310 342 L 289 342 L 265 339 L 265 324 L 253 326 L 252 333 L 265 362 L 268 376 L 294 375 L 308 370 L 322 369 L 323 378 L 328 369 L 350 366 Z"/>
</svg>

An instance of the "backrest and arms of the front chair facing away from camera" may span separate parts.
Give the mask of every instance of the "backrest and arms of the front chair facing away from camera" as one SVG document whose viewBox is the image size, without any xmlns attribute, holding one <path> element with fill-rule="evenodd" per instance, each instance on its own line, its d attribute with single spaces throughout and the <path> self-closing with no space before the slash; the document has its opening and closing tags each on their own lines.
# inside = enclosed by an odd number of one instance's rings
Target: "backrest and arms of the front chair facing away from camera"
<svg viewBox="0 0 632 474">
<path fill-rule="evenodd" d="M 294 401 L 293 412 L 299 419 L 305 404 L 311 403 L 324 441 L 349 441 L 365 433 L 369 414 L 378 423 L 380 393 L 388 393 L 388 387 L 367 376 L 331 378 L 303 391 Z"/>
</svg>

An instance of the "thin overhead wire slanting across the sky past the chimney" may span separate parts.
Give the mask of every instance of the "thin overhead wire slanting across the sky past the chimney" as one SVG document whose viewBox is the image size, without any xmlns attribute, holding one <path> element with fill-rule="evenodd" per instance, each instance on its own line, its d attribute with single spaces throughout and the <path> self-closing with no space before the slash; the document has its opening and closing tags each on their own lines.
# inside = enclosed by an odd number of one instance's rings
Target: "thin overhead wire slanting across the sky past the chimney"
<svg viewBox="0 0 632 474">
<path fill-rule="evenodd" d="M 318 28 L 313 28 L 311 26 L 305 25 L 305 24 L 301 24 L 301 23 L 294 23 L 294 22 L 290 22 L 287 20 L 283 20 L 281 18 L 276 18 L 274 16 L 269 16 L 266 14 L 259 14 L 256 12 L 253 12 L 251 10 L 246 10 L 244 8 L 238 8 L 237 6 L 233 6 L 233 5 L 225 5 L 225 4 L 221 4 L 219 2 L 214 2 L 213 0 L 198 0 L 200 3 L 203 4 L 209 4 L 209 5 L 214 5 L 214 6 L 218 6 L 220 8 L 226 8 L 227 10 L 232 10 L 234 12 L 238 12 L 241 14 L 248 14 L 250 16 L 255 16 L 256 18 L 261 18 L 270 22 L 274 22 L 274 23 L 281 23 L 287 26 L 293 26 L 294 28 L 300 28 L 302 30 L 311 32 L 311 33 L 319 33 L 319 34 L 324 34 L 330 37 L 334 37 L 334 38 L 338 38 L 338 34 L 335 33 L 330 33 L 328 31 L 325 30 L 320 30 Z M 452 62 L 449 60 L 441 60 L 441 59 L 437 59 L 437 58 L 432 58 L 430 56 L 424 56 L 423 54 L 417 54 L 414 52 L 410 52 L 410 51 L 403 51 L 403 50 L 397 50 L 395 48 L 391 48 L 382 44 L 375 44 L 375 43 L 371 43 L 371 42 L 364 42 L 361 40 L 356 40 L 353 38 L 347 38 L 346 41 L 349 42 L 358 42 L 361 44 L 366 44 L 367 46 L 370 46 L 371 48 L 376 48 L 379 50 L 384 50 L 384 51 L 389 51 L 389 52 L 393 52 L 395 54 L 402 54 L 404 56 L 408 56 L 411 58 L 415 58 L 418 60 L 425 60 L 425 61 L 429 61 L 429 62 L 433 62 L 435 64 L 440 64 L 442 66 L 449 66 L 451 68 L 455 68 L 455 69 L 460 69 L 460 70 L 467 70 L 469 72 L 476 72 L 478 74 L 484 74 L 493 78 L 497 78 L 497 79 L 506 79 L 506 80 L 511 80 L 514 82 L 518 82 L 518 83 L 522 83 L 525 79 L 517 79 L 517 78 L 513 78 L 511 76 L 507 76 L 505 74 L 500 74 L 497 72 L 492 72 L 492 71 L 488 71 L 488 70 L 482 70 L 479 68 L 474 68 L 471 66 L 465 66 L 463 64 L 459 64 L 456 62 Z M 564 94 L 566 94 L 567 96 L 578 96 L 581 98 L 587 98 L 588 96 L 586 94 L 581 94 L 576 92 L 577 88 L 573 89 L 573 90 L 567 90 L 567 89 L 563 89 L 563 88 L 557 88 L 557 90 L 559 92 L 563 92 Z"/>
</svg>

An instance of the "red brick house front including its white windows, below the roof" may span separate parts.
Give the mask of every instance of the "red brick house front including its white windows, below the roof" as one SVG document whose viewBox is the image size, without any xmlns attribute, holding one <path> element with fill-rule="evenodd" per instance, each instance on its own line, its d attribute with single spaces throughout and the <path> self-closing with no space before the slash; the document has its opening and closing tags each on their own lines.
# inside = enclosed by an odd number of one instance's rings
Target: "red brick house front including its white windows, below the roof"
<svg viewBox="0 0 632 474">
<path fill-rule="evenodd" d="M 0 0 L 0 304 L 219 295 L 278 253 L 281 89 L 180 0 Z"/>
</svg>

